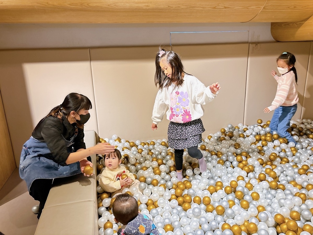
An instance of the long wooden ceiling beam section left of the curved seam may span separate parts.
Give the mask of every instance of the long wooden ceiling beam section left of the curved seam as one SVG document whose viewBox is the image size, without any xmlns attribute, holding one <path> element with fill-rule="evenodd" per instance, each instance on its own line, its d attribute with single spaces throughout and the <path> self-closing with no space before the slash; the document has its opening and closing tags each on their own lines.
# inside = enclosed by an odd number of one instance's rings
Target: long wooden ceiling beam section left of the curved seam
<svg viewBox="0 0 313 235">
<path fill-rule="evenodd" d="M 266 0 L 11 0 L 0 3 L 0 23 L 247 22 Z"/>
</svg>

